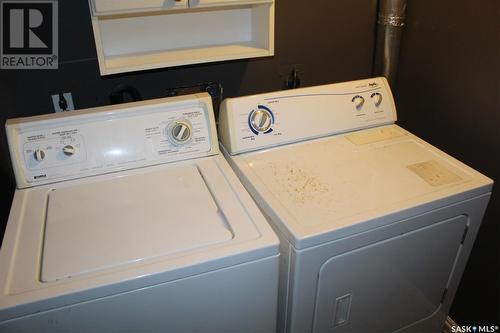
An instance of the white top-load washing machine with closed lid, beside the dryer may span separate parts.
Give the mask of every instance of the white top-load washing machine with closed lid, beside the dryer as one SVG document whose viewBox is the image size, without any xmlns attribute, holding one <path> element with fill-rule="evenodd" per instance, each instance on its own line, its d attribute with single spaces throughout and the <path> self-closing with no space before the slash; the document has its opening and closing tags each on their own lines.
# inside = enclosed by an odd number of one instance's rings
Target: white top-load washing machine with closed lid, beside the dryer
<svg viewBox="0 0 500 333">
<path fill-rule="evenodd" d="M 278 238 L 208 94 L 6 124 L 1 332 L 274 332 Z"/>
</svg>

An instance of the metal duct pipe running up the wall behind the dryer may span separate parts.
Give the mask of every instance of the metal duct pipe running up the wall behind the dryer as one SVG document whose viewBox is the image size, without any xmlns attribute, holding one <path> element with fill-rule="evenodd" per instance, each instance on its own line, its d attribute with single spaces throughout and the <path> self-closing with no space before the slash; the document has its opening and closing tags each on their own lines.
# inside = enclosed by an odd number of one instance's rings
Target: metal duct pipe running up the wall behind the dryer
<svg viewBox="0 0 500 333">
<path fill-rule="evenodd" d="M 396 80 L 399 46 L 405 23 L 407 0 L 380 0 L 374 76 L 385 76 L 392 87 Z"/>
</svg>

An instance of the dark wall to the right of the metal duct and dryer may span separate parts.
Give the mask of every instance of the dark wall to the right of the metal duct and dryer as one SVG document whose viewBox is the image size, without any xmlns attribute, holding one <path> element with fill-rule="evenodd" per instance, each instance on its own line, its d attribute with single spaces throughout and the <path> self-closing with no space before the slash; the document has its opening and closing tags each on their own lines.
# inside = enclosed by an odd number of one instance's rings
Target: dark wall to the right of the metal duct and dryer
<svg viewBox="0 0 500 333">
<path fill-rule="evenodd" d="M 497 181 L 451 316 L 500 324 L 500 2 L 408 1 L 399 124 Z"/>
</svg>

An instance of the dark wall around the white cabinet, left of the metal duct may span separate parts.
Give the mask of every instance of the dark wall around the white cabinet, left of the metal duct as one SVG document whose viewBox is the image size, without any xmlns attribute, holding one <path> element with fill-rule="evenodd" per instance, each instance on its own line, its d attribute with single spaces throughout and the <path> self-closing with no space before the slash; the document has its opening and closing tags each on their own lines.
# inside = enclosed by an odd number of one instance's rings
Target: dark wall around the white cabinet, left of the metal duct
<svg viewBox="0 0 500 333">
<path fill-rule="evenodd" d="M 72 92 L 77 108 L 106 105 L 119 83 L 144 98 L 167 88 L 217 81 L 226 97 L 278 90 L 298 65 L 303 85 L 360 79 L 372 70 L 376 0 L 276 0 L 276 56 L 100 77 L 87 0 L 59 1 L 59 70 L 0 70 L 0 122 L 52 112 L 51 94 Z M 209 28 L 209 27 L 207 27 Z M 14 181 L 1 134 L 0 237 Z"/>
</svg>

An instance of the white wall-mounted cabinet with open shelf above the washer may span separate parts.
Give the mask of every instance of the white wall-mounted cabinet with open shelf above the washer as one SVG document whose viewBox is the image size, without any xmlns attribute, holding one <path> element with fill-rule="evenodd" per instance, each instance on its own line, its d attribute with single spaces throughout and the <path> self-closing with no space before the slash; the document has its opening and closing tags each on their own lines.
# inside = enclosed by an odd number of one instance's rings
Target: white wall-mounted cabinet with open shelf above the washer
<svg viewBox="0 0 500 333">
<path fill-rule="evenodd" d="M 90 0 L 101 75 L 274 54 L 274 0 Z"/>
</svg>

